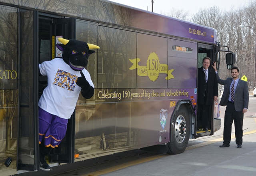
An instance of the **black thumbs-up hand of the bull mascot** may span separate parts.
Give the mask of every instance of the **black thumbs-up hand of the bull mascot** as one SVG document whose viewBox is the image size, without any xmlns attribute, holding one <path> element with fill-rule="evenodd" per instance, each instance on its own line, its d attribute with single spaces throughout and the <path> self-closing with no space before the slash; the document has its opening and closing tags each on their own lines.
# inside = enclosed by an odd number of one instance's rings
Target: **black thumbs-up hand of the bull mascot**
<svg viewBox="0 0 256 176">
<path fill-rule="evenodd" d="M 81 87 L 82 96 L 86 99 L 90 99 L 94 94 L 94 88 L 86 80 L 84 73 L 80 71 L 81 77 L 77 78 L 76 85 Z"/>
</svg>

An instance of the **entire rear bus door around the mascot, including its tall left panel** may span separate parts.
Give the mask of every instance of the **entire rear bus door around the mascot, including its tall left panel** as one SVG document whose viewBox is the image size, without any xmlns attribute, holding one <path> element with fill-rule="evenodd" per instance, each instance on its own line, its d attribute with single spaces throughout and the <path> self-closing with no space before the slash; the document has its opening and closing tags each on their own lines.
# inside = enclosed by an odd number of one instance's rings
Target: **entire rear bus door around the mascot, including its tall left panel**
<svg viewBox="0 0 256 176">
<path fill-rule="evenodd" d="M 56 56 L 56 36 L 75 39 L 75 18 L 20 10 L 20 78 L 18 170 L 39 170 L 38 100 L 47 77 L 38 77 L 38 64 Z M 74 162 L 75 119 L 68 121 L 65 138 L 49 155 L 50 162 Z M 20 171 L 22 172 L 22 171 Z"/>
</svg>

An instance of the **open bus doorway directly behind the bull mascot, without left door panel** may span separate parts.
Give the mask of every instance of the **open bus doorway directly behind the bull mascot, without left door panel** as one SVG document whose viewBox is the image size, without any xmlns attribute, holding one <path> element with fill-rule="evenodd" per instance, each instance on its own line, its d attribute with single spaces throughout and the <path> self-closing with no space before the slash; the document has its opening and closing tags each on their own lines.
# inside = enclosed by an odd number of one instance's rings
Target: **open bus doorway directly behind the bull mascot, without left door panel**
<svg viewBox="0 0 256 176">
<path fill-rule="evenodd" d="M 39 63 L 61 57 L 61 53 L 56 50 L 57 38 L 75 39 L 76 19 L 60 18 L 59 16 L 39 14 L 38 28 L 38 48 Z M 38 79 L 39 97 L 47 86 L 47 77 L 39 76 Z M 74 134 L 75 117 L 72 115 L 68 120 L 68 127 L 65 138 L 60 145 L 54 148 L 49 155 L 50 162 L 72 163 L 74 162 Z"/>
</svg>

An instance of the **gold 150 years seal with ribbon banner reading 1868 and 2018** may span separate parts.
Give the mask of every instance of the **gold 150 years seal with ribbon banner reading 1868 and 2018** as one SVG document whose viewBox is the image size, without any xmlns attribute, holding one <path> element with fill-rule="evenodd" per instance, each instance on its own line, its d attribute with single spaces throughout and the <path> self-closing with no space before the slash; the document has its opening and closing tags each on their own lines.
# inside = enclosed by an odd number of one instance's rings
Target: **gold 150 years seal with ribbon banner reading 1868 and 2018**
<svg viewBox="0 0 256 176">
<path fill-rule="evenodd" d="M 160 63 L 158 56 L 156 53 L 152 52 L 148 56 L 147 66 L 140 66 L 138 63 L 140 62 L 140 58 L 129 59 L 133 65 L 130 67 L 130 70 L 137 69 L 137 74 L 139 76 L 148 76 L 151 81 L 156 81 L 158 75 L 160 73 L 166 73 L 166 80 L 174 79 L 172 72 L 174 69 L 168 70 L 168 65 L 164 63 Z"/>
</svg>

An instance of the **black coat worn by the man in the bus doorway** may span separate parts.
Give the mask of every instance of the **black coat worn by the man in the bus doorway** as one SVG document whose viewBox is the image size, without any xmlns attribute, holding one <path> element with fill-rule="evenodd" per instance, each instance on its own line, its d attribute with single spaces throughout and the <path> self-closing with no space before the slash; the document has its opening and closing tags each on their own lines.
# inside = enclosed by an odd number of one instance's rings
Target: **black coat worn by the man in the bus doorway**
<svg viewBox="0 0 256 176">
<path fill-rule="evenodd" d="M 207 91 L 205 91 L 207 90 Z M 206 93 L 206 95 L 204 95 Z M 203 67 L 198 68 L 198 105 L 210 105 L 214 103 L 214 96 L 218 96 L 218 82 L 213 69 L 208 69 L 208 81 L 206 83 Z M 206 96 L 206 102 L 204 98 Z"/>
</svg>

